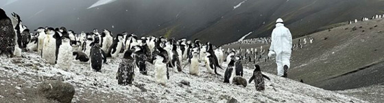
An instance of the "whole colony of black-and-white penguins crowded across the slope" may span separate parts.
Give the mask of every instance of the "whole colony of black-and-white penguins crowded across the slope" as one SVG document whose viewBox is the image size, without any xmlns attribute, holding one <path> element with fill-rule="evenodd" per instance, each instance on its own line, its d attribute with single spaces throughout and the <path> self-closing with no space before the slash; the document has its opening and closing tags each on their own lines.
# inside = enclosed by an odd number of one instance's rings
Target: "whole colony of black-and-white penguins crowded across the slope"
<svg viewBox="0 0 384 103">
<path fill-rule="evenodd" d="M 374 16 L 381 19 L 382 16 Z M 363 18 L 362 21 L 368 21 Z M 98 32 L 81 32 L 77 34 L 66 27 L 38 27 L 31 34 L 27 26 L 22 24 L 21 17 L 12 13 L 10 19 L 3 9 L 0 10 L 1 31 L 0 55 L 8 57 L 21 56 L 21 52 L 37 52 L 41 58 L 51 65 L 62 69 L 71 69 L 73 60 L 88 63 L 94 71 L 102 72 L 102 65 L 107 64 L 107 58 L 114 59 L 123 56 L 117 69 L 118 84 L 127 85 L 134 83 L 135 69 L 142 75 L 147 71 L 155 71 L 154 81 L 158 84 L 167 84 L 169 72 L 186 73 L 184 67 L 189 66 L 191 75 L 200 76 L 205 71 L 216 76 L 224 76 L 224 82 L 238 84 L 234 78 L 243 77 L 242 61 L 261 62 L 269 59 L 264 56 L 265 49 L 261 46 L 251 49 L 228 49 L 216 47 L 211 43 L 201 43 L 200 40 L 188 41 L 185 38 L 164 38 L 162 36 L 143 36 L 123 32 L 112 34 L 109 30 Z M 12 29 L 13 27 L 13 29 Z M 13 31 L 12 31 L 13 30 Z M 114 37 L 115 36 L 115 37 Z M 313 43 L 314 38 L 304 38 L 298 46 Z M 253 38 L 239 43 L 270 43 L 270 38 Z M 233 44 L 233 43 L 232 43 Z M 72 55 L 72 56 L 71 56 Z M 147 68 L 147 64 L 154 65 L 154 69 Z M 204 65 L 200 65 L 204 64 Z M 224 65 L 222 65 L 224 64 Z M 226 66 L 225 66 L 226 65 Z M 200 67 L 206 67 L 206 70 Z M 217 69 L 226 67 L 225 73 L 220 74 Z M 139 74 L 140 75 L 140 74 Z M 270 80 L 261 73 L 259 65 L 254 66 L 254 73 L 249 83 L 254 81 L 257 91 L 263 91 L 264 79 Z"/>
</svg>

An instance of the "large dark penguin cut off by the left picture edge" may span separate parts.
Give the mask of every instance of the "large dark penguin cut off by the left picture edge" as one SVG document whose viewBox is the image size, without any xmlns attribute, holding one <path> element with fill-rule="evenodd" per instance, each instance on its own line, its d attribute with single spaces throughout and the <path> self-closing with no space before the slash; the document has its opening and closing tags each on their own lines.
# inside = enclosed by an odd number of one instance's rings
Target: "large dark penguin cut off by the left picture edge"
<svg viewBox="0 0 384 103">
<path fill-rule="evenodd" d="M 3 8 L 0 8 L 0 55 L 5 54 L 12 58 L 16 46 L 16 33 L 11 19 L 5 14 Z"/>
</svg>

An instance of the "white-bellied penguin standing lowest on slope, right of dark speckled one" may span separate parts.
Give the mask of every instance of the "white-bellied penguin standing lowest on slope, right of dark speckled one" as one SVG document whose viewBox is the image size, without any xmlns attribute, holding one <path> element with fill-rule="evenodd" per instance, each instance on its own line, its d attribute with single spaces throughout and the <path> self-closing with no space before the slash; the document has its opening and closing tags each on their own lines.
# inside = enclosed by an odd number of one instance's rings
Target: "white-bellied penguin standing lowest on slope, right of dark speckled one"
<svg viewBox="0 0 384 103">
<path fill-rule="evenodd" d="M 154 57 L 155 82 L 163 85 L 165 85 L 169 79 L 167 60 L 165 58 L 163 54 L 158 54 Z"/>
</svg>

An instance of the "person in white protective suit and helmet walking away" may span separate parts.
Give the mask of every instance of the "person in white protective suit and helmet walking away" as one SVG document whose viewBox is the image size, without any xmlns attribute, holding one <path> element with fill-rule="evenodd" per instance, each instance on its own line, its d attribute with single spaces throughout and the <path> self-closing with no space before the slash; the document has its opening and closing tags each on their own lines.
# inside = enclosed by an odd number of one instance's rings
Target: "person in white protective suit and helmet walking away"
<svg viewBox="0 0 384 103">
<path fill-rule="evenodd" d="M 268 56 L 276 54 L 277 75 L 287 78 L 290 66 L 292 35 L 284 26 L 283 19 L 277 19 L 276 28 L 272 31 L 272 43 L 269 47 Z"/>
</svg>

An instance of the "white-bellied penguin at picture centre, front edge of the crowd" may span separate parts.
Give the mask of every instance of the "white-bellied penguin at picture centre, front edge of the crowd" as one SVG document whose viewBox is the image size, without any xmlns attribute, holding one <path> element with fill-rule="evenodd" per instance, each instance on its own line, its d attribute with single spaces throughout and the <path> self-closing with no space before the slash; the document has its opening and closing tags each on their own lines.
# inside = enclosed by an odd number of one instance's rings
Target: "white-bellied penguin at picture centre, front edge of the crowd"
<svg viewBox="0 0 384 103">
<path fill-rule="evenodd" d="M 190 60 L 191 65 L 189 65 L 189 74 L 200 76 L 200 60 L 197 49 L 198 48 L 194 48 L 192 52 L 192 58 Z"/>
</svg>

